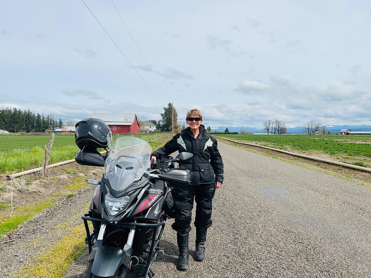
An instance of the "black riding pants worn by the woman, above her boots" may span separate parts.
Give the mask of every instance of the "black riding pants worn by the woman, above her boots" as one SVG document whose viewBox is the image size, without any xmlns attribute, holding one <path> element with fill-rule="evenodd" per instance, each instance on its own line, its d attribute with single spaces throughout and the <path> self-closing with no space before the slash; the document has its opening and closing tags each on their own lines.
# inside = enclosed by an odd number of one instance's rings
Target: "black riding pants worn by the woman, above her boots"
<svg viewBox="0 0 371 278">
<path fill-rule="evenodd" d="M 176 185 L 172 194 L 177 216 L 172 225 L 180 234 L 191 231 L 193 199 L 196 200 L 196 219 L 194 226 L 207 229 L 211 226 L 211 201 L 214 198 L 215 183 L 201 183 L 200 185 Z"/>
</svg>

